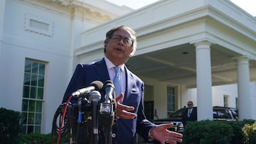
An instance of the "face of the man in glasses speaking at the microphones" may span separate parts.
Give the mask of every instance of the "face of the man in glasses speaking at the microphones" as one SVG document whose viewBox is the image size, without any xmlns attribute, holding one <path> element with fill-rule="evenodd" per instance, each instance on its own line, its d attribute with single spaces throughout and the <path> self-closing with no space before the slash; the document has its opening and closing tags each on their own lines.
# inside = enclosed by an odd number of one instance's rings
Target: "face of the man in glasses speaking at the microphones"
<svg viewBox="0 0 256 144">
<path fill-rule="evenodd" d="M 114 65 L 121 65 L 129 59 L 132 52 L 132 34 L 125 30 L 115 31 L 106 45 L 106 57 L 110 59 Z"/>
</svg>

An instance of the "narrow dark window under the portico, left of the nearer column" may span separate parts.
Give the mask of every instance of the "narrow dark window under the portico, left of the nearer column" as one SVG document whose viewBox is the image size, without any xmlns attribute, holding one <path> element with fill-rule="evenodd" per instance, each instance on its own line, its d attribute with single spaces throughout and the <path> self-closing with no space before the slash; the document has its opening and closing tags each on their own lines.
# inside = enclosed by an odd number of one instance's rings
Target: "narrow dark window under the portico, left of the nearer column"
<svg viewBox="0 0 256 144">
<path fill-rule="evenodd" d="M 171 113 L 175 111 L 175 88 L 167 87 L 167 116 L 170 117 Z"/>
</svg>

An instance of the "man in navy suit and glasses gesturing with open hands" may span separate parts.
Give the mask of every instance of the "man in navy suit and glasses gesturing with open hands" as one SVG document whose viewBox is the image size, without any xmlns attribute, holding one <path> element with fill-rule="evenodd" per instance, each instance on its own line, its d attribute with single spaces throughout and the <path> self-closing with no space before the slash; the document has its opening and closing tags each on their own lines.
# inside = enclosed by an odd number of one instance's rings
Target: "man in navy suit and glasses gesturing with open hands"
<svg viewBox="0 0 256 144">
<path fill-rule="evenodd" d="M 137 38 L 132 28 L 119 26 L 106 33 L 104 41 L 105 57 L 95 63 L 79 64 L 68 84 L 63 102 L 67 101 L 70 94 L 77 89 L 88 86 L 98 80 L 114 81 L 116 72 L 114 67 L 119 67 L 119 81 L 121 93 L 115 94 L 117 99 L 117 126 L 112 128 L 112 143 L 136 143 L 136 133 L 145 140 L 156 139 L 161 144 L 181 143 L 182 135 L 168 131 L 172 123 L 156 126 L 148 121 L 144 114 L 144 82 L 130 72 L 124 65 L 134 55 L 137 47 Z M 73 101 L 75 102 L 75 101 Z M 100 133 L 100 132 L 99 132 Z M 104 143 L 104 140 L 99 140 Z"/>
</svg>

